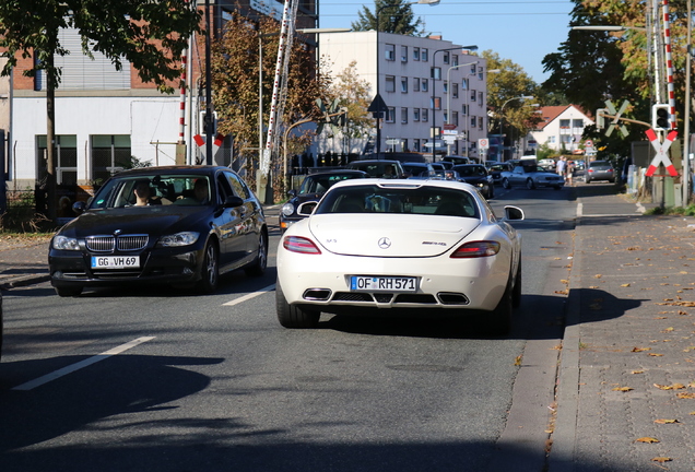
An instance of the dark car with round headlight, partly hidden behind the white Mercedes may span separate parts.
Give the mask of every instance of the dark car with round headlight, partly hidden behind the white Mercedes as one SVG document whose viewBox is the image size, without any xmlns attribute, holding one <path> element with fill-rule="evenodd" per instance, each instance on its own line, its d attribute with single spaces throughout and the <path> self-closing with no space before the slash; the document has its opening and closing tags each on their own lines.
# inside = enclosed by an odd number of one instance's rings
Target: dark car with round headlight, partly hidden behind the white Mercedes
<svg viewBox="0 0 695 472">
<path fill-rule="evenodd" d="M 287 192 L 290 200 L 282 205 L 278 216 L 280 229 L 285 232 L 292 224 L 306 217 L 299 213 L 311 213 L 316 203 L 333 185 L 342 180 L 367 177 L 369 174 L 366 172 L 354 169 L 337 169 L 307 175 L 302 180 L 299 190 L 293 189 Z"/>
</svg>

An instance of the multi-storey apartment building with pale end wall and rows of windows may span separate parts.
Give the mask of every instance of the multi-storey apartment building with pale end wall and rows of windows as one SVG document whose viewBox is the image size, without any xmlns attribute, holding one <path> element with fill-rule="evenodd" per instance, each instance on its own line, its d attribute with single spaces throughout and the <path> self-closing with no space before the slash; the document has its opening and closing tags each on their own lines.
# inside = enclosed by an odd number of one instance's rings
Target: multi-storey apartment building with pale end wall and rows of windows
<svg viewBox="0 0 695 472">
<path fill-rule="evenodd" d="M 378 91 L 386 103 L 381 152 L 431 153 L 434 144 L 437 154 L 464 155 L 468 144 L 468 155 L 478 156 L 478 140 L 487 137 L 485 59 L 439 37 L 374 31 L 319 35 L 319 50 L 333 75 L 356 61 L 372 96 Z M 376 120 L 373 134 L 350 152 L 374 150 L 375 140 Z M 319 153 L 342 151 L 330 140 L 318 146 Z"/>
</svg>

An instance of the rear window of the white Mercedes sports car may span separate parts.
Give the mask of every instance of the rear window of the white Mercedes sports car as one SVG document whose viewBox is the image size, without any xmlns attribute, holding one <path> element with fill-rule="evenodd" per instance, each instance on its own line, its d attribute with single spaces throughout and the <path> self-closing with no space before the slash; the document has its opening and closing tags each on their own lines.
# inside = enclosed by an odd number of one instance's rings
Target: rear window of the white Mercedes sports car
<svg viewBox="0 0 695 472">
<path fill-rule="evenodd" d="M 475 198 L 464 190 L 429 186 L 364 185 L 333 189 L 314 214 L 407 213 L 480 217 Z"/>
</svg>

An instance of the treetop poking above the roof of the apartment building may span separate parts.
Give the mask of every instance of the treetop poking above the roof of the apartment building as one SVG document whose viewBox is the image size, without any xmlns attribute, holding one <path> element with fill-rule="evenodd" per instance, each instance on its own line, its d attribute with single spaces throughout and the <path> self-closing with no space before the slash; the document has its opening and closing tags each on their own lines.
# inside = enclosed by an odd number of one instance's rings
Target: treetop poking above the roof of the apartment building
<svg viewBox="0 0 695 472">
<path fill-rule="evenodd" d="M 377 27 L 377 13 L 379 24 Z M 422 36 L 423 21 L 415 20 L 411 5 L 405 0 L 375 0 L 374 11 L 366 5 L 357 12 L 360 20 L 352 23 L 353 31 L 379 31 L 405 36 Z"/>
</svg>

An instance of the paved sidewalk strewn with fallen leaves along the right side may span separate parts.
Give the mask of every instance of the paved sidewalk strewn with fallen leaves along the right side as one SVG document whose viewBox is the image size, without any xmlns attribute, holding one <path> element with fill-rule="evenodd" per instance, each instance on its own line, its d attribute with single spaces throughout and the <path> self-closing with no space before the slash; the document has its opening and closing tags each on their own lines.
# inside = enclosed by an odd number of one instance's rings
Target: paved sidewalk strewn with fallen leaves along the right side
<svg viewBox="0 0 695 472">
<path fill-rule="evenodd" d="M 695 219 L 577 188 L 550 472 L 695 471 Z"/>
</svg>

